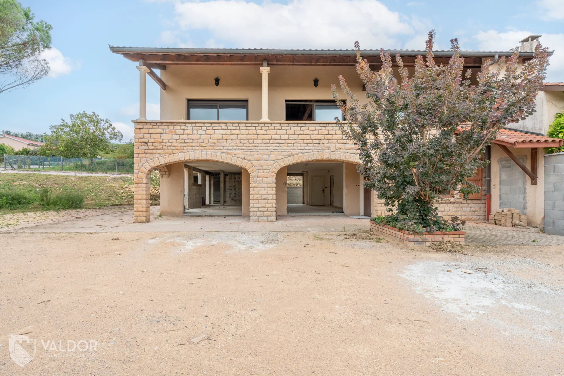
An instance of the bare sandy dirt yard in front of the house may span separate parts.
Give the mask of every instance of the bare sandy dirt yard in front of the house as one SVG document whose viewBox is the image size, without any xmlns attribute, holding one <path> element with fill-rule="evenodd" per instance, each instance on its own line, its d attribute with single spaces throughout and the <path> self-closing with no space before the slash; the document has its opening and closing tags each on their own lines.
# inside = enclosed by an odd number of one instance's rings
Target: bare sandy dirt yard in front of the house
<svg viewBox="0 0 564 376">
<path fill-rule="evenodd" d="M 345 216 L 153 232 L 86 216 L 0 232 L 2 374 L 564 374 L 564 246 L 440 253 Z M 24 367 L 11 334 L 36 340 Z"/>
</svg>

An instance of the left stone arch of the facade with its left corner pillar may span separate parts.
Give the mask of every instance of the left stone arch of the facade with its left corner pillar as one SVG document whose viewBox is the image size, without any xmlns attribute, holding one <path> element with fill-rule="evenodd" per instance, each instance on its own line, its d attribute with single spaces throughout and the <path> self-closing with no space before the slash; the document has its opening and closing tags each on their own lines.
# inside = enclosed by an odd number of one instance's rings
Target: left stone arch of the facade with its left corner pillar
<svg viewBox="0 0 564 376">
<path fill-rule="evenodd" d="M 149 192 L 151 184 L 149 175 L 151 171 L 157 169 L 162 178 L 168 178 L 169 170 L 166 166 L 188 161 L 230 163 L 247 170 L 252 180 L 257 177 L 257 170 L 251 162 L 222 153 L 195 151 L 167 154 L 166 156 L 153 158 L 144 162 L 135 172 L 133 185 L 134 222 L 146 223 L 151 220 L 151 194 Z"/>
</svg>

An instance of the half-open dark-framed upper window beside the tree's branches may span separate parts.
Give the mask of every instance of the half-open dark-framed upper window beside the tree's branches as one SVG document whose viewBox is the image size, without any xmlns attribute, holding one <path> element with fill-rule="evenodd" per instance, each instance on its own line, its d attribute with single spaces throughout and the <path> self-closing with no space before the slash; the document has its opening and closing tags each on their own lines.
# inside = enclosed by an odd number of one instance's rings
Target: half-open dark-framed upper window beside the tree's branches
<svg viewBox="0 0 564 376">
<path fill-rule="evenodd" d="M 334 100 L 286 100 L 287 121 L 335 121 L 343 120 L 343 113 Z"/>
</svg>

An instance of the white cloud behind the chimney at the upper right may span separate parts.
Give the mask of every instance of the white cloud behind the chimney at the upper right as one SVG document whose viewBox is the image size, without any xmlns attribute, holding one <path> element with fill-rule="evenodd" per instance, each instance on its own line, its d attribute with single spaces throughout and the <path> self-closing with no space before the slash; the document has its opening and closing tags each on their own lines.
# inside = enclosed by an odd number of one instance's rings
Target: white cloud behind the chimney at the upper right
<svg viewBox="0 0 564 376">
<path fill-rule="evenodd" d="M 512 47 L 518 47 L 519 41 L 535 33 L 527 30 L 509 30 L 500 33 L 497 30 L 487 30 L 487 32 L 479 32 L 475 34 L 474 39 L 478 42 L 478 50 L 486 51 L 504 51 Z M 542 34 L 542 33 L 539 33 Z M 564 81 L 564 33 L 559 34 L 542 34 L 540 42 L 543 46 L 554 50 L 554 55 L 550 56 L 549 67 L 547 69 L 548 82 Z"/>
</svg>

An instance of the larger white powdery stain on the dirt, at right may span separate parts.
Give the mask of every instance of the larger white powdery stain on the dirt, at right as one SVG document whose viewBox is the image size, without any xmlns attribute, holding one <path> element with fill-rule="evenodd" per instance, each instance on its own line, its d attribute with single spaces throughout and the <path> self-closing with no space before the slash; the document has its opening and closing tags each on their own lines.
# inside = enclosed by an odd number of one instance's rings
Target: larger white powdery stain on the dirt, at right
<svg viewBox="0 0 564 376">
<path fill-rule="evenodd" d="M 473 273 L 464 273 L 462 269 L 470 269 Z M 400 276 L 413 282 L 417 293 L 424 294 L 443 311 L 454 313 L 462 320 L 475 320 L 500 305 L 550 314 L 532 304 L 515 301 L 515 297 L 519 297 L 518 284 L 495 272 L 484 273 L 470 266 L 425 261 L 408 266 Z"/>
</svg>

